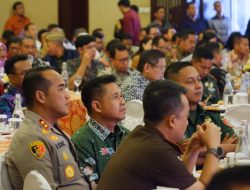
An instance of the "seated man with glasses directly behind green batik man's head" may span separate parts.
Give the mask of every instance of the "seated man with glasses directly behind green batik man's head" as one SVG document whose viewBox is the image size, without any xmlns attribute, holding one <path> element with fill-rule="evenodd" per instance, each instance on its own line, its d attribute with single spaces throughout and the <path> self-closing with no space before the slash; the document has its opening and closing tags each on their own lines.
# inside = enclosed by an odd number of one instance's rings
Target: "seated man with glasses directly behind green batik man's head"
<svg viewBox="0 0 250 190">
<path fill-rule="evenodd" d="M 115 75 L 118 86 L 128 78 L 133 69 L 129 67 L 128 49 L 121 43 L 114 44 L 110 49 L 111 67 L 99 72 L 98 75 Z"/>
</svg>

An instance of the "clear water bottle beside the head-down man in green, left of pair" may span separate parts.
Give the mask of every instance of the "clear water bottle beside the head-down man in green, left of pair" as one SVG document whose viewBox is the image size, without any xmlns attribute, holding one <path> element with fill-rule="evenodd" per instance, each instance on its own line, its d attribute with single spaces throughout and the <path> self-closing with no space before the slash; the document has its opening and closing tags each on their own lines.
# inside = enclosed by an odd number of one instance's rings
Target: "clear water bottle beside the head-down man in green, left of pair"
<svg viewBox="0 0 250 190">
<path fill-rule="evenodd" d="M 226 84 L 223 91 L 223 101 L 225 106 L 233 104 L 233 87 L 231 83 L 231 75 L 229 73 L 226 74 Z"/>
</svg>

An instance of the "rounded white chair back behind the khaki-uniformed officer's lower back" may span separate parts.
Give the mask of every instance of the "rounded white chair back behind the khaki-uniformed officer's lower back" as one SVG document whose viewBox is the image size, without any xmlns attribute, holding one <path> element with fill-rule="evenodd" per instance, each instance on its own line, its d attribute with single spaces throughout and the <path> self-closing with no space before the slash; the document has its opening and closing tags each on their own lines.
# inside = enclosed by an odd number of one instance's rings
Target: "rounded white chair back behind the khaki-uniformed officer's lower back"
<svg viewBox="0 0 250 190">
<path fill-rule="evenodd" d="M 48 181 L 36 170 L 30 171 L 25 179 L 23 190 L 52 190 Z"/>
</svg>

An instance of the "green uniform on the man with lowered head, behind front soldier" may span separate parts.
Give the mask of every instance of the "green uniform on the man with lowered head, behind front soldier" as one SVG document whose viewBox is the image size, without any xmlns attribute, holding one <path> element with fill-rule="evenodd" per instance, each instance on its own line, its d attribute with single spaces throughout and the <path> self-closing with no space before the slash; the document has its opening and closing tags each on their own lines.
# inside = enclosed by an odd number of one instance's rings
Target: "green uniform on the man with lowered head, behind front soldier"
<svg viewBox="0 0 250 190">
<path fill-rule="evenodd" d="M 201 79 L 201 81 L 203 84 L 202 101 L 205 101 L 209 96 L 211 96 L 207 101 L 207 105 L 217 104 L 220 100 L 220 94 L 216 79 L 212 75 L 208 74 Z"/>
</svg>

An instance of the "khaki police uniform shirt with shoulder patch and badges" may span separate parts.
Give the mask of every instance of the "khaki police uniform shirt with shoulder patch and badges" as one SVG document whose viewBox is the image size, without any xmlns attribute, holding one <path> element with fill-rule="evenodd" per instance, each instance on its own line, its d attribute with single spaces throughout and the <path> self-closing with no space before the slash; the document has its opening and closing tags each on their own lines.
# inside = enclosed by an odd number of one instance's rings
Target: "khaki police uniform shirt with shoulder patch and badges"
<svg viewBox="0 0 250 190">
<path fill-rule="evenodd" d="M 89 189 L 80 174 L 76 152 L 67 135 L 56 126 L 48 126 L 39 115 L 28 110 L 11 141 L 6 162 L 15 190 L 23 189 L 25 176 L 32 170 L 40 172 L 53 190 Z"/>
</svg>

